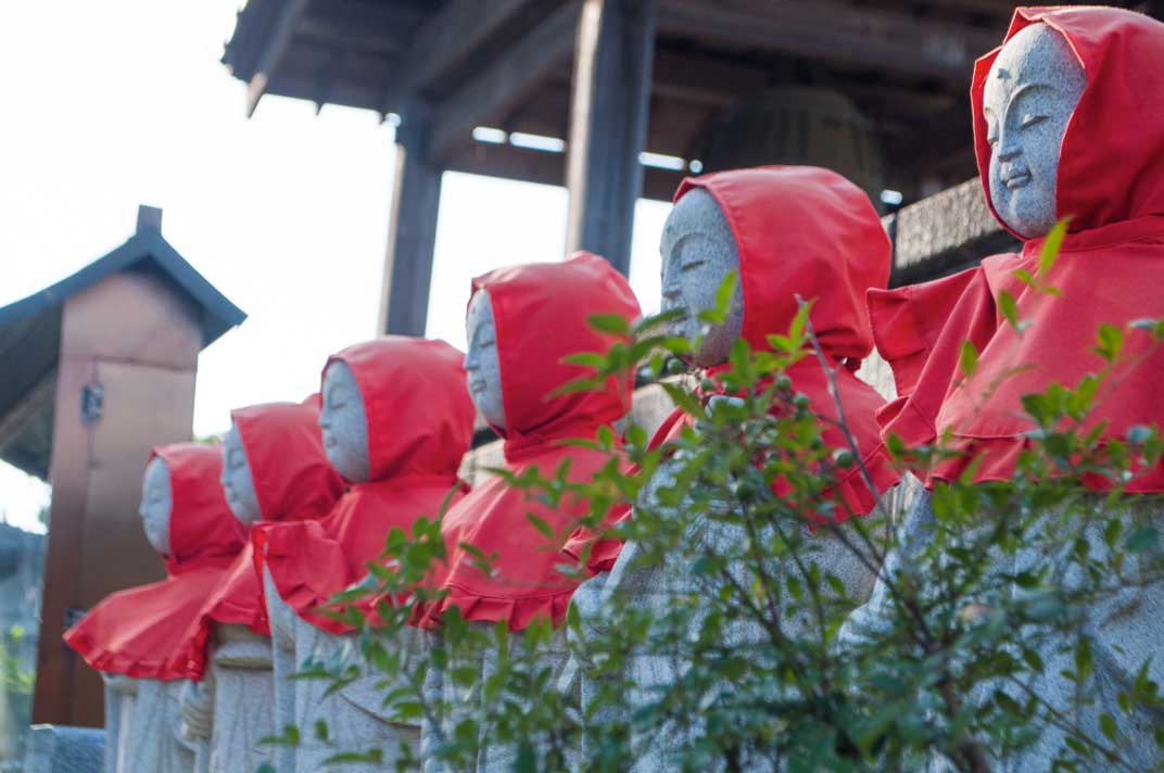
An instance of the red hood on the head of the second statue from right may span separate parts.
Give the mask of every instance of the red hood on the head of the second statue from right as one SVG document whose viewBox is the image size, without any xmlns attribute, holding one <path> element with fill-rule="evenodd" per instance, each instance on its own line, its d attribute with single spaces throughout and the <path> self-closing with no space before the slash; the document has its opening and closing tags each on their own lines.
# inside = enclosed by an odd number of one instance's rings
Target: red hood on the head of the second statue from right
<svg viewBox="0 0 1164 773">
<path fill-rule="evenodd" d="M 677 201 L 702 187 L 719 204 L 739 250 L 743 338 L 767 350 L 788 331 L 797 288 L 812 307 L 821 346 L 852 366 L 873 349 L 865 290 L 889 279 L 889 237 L 861 189 L 817 166 L 759 166 L 689 177 Z M 779 206 L 774 205 L 779 201 Z"/>
</svg>

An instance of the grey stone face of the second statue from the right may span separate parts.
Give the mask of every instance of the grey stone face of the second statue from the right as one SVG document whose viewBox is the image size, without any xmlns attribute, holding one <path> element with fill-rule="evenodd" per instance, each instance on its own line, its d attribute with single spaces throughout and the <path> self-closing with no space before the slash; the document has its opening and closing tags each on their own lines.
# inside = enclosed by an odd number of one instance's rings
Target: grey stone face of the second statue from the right
<svg viewBox="0 0 1164 773">
<path fill-rule="evenodd" d="M 662 255 L 662 310 L 681 309 L 686 315 L 672 324 L 670 333 L 696 345 L 691 357 L 708 368 L 728 360 L 732 341 L 744 329 L 744 296 L 737 282 L 736 298 L 723 325 L 698 319 L 702 311 L 716 307 L 716 292 L 729 271 L 739 270 L 736 236 L 723 210 L 702 187 L 683 194 L 663 225 L 659 243 Z"/>
</svg>

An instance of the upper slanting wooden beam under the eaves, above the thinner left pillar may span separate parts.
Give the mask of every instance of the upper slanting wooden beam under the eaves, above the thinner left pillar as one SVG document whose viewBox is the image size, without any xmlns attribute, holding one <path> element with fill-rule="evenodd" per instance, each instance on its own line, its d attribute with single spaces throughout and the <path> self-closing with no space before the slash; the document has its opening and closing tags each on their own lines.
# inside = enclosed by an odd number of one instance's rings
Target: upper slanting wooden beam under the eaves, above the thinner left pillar
<svg viewBox="0 0 1164 773">
<path fill-rule="evenodd" d="M 436 81 L 531 8 L 544 9 L 560 1 L 450 0 L 413 35 L 381 109 L 398 109 L 402 98 Z"/>
</svg>

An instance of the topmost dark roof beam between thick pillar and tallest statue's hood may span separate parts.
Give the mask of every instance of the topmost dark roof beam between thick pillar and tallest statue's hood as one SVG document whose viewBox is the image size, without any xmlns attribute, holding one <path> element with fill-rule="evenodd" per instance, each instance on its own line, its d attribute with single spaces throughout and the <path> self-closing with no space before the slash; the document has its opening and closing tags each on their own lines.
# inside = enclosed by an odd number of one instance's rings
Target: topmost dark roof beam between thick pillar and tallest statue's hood
<svg viewBox="0 0 1164 773">
<path fill-rule="evenodd" d="M 660 0 L 659 34 L 970 83 L 999 34 L 837 0 Z"/>
</svg>

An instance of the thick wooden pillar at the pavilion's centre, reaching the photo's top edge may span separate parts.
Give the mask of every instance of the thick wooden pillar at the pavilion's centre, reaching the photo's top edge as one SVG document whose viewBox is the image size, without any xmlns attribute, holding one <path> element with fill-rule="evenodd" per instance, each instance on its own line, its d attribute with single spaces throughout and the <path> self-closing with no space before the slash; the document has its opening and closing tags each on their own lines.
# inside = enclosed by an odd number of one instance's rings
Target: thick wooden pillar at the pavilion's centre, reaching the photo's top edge
<svg viewBox="0 0 1164 773">
<path fill-rule="evenodd" d="M 585 0 L 574 54 L 566 244 L 631 265 L 643 192 L 655 0 Z"/>
</svg>

